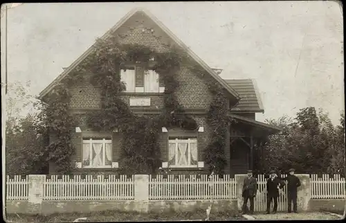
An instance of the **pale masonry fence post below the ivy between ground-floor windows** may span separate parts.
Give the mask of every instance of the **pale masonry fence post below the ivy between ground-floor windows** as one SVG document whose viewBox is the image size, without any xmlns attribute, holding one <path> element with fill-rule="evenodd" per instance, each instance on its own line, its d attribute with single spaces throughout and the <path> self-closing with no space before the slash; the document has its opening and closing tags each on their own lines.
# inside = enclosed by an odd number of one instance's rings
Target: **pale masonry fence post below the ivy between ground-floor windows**
<svg viewBox="0 0 346 223">
<path fill-rule="evenodd" d="M 134 202 L 136 211 L 149 211 L 149 175 L 134 175 Z"/>
</svg>

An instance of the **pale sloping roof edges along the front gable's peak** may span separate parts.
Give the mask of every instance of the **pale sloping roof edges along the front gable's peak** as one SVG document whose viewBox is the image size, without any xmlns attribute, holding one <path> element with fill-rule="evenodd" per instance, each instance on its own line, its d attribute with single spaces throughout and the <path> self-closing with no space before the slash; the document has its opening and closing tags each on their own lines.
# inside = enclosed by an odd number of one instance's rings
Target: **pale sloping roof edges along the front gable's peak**
<svg viewBox="0 0 346 223">
<path fill-rule="evenodd" d="M 120 21 L 118 21 L 118 23 L 115 26 L 109 29 L 107 33 L 105 33 L 101 38 L 104 39 L 107 36 L 109 36 L 111 33 L 118 30 L 118 28 L 120 28 L 122 24 L 125 24 L 125 22 L 131 16 L 133 16 L 136 12 L 143 12 L 145 15 L 147 15 L 147 17 L 149 17 L 149 19 L 152 19 L 152 21 L 154 21 L 154 23 L 159 28 L 161 28 L 178 46 L 181 46 L 181 48 L 183 48 L 183 50 L 185 50 L 188 53 L 188 55 L 192 57 L 192 59 L 194 59 L 199 65 L 201 65 L 203 69 L 208 71 L 208 73 L 212 76 L 212 78 L 215 78 L 215 80 L 217 80 L 217 82 L 219 82 L 221 86 L 224 87 L 230 93 L 230 95 L 234 96 L 236 100 L 240 99 L 237 91 L 235 91 L 232 87 L 230 87 L 229 84 L 227 84 L 222 78 L 220 78 L 219 75 L 217 75 L 215 71 L 213 71 L 205 62 L 203 62 L 203 60 L 201 60 L 200 57 L 198 57 L 195 53 L 193 53 L 190 50 L 190 48 L 186 46 L 178 37 L 176 37 L 176 35 L 174 35 L 165 25 L 163 25 L 161 21 L 159 21 L 156 17 L 154 17 L 154 15 L 152 15 L 150 12 L 148 12 L 147 10 L 143 8 L 134 8 L 133 10 L 128 12 L 127 15 L 125 15 L 125 17 L 122 17 L 122 19 L 120 19 Z M 55 84 L 57 84 L 63 78 L 65 78 L 66 75 L 68 75 L 73 69 L 75 69 L 75 67 L 78 66 L 78 64 L 80 64 L 80 62 L 82 62 L 82 60 L 84 60 L 91 53 L 91 51 L 93 50 L 93 47 L 94 47 L 94 44 L 91 47 L 89 47 L 82 55 L 80 55 L 80 57 L 78 57 L 78 59 L 75 60 L 75 62 L 73 62 L 69 67 L 64 69 L 64 71 L 60 75 L 58 75 L 57 78 L 55 78 L 55 80 L 51 82 L 51 84 L 49 84 L 43 91 L 41 91 L 41 93 L 39 93 L 38 98 L 42 100 L 42 98 L 44 98 L 44 96 L 46 96 L 46 94 L 53 89 Z"/>
</svg>

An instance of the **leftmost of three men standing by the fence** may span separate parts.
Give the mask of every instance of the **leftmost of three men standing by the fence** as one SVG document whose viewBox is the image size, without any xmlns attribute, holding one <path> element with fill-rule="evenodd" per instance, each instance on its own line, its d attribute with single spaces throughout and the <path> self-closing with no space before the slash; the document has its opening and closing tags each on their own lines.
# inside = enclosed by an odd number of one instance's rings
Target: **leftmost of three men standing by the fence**
<svg viewBox="0 0 346 223">
<path fill-rule="evenodd" d="M 244 203 L 242 207 L 243 214 L 247 211 L 248 200 L 250 200 L 250 214 L 253 214 L 253 199 L 257 193 L 257 179 L 253 177 L 253 171 L 248 170 L 248 177 L 244 179 L 243 193 Z"/>
</svg>

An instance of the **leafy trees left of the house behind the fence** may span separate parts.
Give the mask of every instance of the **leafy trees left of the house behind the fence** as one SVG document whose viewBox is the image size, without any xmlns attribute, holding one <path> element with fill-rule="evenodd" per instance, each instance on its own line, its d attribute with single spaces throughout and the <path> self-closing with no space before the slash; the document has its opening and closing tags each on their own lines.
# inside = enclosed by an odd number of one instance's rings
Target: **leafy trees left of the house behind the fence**
<svg viewBox="0 0 346 223">
<path fill-rule="evenodd" d="M 6 108 L 6 175 L 44 173 L 46 135 L 37 122 L 39 109 L 27 87 L 20 82 L 9 85 Z M 24 115 L 26 113 L 26 115 Z M 41 132 L 40 132 L 41 131 Z"/>
</svg>

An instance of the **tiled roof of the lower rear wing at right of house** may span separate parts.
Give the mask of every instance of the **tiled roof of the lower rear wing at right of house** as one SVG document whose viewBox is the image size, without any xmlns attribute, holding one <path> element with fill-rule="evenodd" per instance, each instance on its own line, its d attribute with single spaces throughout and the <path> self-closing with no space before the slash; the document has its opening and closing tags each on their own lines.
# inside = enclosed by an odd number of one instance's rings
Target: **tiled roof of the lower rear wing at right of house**
<svg viewBox="0 0 346 223">
<path fill-rule="evenodd" d="M 240 100 L 238 105 L 231 111 L 253 111 L 264 112 L 260 92 L 257 89 L 256 81 L 253 79 L 233 79 L 225 80 L 237 93 Z"/>
</svg>

